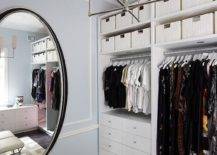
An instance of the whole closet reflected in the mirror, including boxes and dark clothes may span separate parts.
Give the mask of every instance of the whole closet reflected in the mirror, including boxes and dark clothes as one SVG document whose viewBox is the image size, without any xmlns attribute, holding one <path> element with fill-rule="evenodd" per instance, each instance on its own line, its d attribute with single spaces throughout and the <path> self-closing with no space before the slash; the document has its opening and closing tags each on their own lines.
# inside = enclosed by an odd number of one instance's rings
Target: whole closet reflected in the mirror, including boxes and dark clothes
<svg viewBox="0 0 217 155">
<path fill-rule="evenodd" d="M 59 61 L 50 36 L 41 38 L 32 47 L 32 99 L 38 106 L 39 127 L 53 134 L 59 114 L 60 94 L 52 88 L 54 78 L 60 79 Z M 37 93 L 37 89 L 42 89 Z M 58 88 L 61 89 L 61 88 Z M 54 100 L 54 101 L 53 101 Z M 56 103 L 52 103 L 56 102 Z M 56 105 L 55 105 L 56 104 Z"/>
</svg>

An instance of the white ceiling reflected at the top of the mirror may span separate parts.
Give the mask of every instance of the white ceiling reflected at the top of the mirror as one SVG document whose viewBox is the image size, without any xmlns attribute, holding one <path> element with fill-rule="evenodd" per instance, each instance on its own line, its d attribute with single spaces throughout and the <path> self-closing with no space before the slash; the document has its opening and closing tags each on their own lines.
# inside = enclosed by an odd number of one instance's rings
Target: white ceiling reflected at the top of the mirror
<svg viewBox="0 0 217 155">
<path fill-rule="evenodd" d="M 0 27 L 14 30 L 46 33 L 44 25 L 32 14 L 17 12 L 7 16 L 1 23 Z"/>
</svg>

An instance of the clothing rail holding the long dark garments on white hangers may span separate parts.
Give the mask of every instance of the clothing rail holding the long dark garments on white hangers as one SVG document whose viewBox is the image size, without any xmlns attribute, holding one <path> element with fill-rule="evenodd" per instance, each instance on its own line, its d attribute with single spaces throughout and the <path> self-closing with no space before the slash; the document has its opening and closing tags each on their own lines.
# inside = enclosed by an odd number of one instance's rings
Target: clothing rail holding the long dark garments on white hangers
<svg viewBox="0 0 217 155">
<path fill-rule="evenodd" d="M 217 47 L 201 47 L 201 48 L 191 48 L 191 49 L 184 49 L 184 50 L 176 50 L 174 51 L 167 51 L 164 52 L 164 55 L 186 55 L 186 54 L 201 54 L 201 53 L 212 53 L 217 52 Z"/>
</svg>

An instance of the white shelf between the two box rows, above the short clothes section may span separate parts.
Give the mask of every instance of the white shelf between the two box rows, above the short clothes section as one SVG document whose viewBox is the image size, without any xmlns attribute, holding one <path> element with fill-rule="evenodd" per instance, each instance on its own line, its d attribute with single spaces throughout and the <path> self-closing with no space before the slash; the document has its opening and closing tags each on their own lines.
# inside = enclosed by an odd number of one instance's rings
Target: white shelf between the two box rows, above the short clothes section
<svg viewBox="0 0 217 155">
<path fill-rule="evenodd" d="M 112 32 L 101 33 L 100 35 L 102 37 L 115 36 L 115 35 L 119 35 L 119 34 L 122 34 L 122 33 L 127 33 L 127 32 L 131 32 L 131 31 L 134 31 L 134 30 L 138 30 L 140 28 L 148 27 L 148 26 L 150 26 L 150 24 L 151 24 L 151 21 L 148 20 L 148 21 L 143 22 L 143 23 L 132 24 L 132 25 L 130 25 L 128 27 L 125 27 L 125 28 L 116 29 L 116 30 L 114 30 Z"/>
</svg>

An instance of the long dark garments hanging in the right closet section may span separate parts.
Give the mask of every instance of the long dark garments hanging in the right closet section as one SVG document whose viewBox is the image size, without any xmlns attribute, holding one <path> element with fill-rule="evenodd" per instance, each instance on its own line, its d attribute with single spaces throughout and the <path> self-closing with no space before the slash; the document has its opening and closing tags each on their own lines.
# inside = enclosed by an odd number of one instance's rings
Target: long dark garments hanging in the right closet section
<svg viewBox="0 0 217 155">
<path fill-rule="evenodd" d="M 217 67 L 188 57 L 160 67 L 157 154 L 217 154 Z"/>
</svg>

